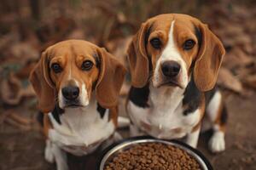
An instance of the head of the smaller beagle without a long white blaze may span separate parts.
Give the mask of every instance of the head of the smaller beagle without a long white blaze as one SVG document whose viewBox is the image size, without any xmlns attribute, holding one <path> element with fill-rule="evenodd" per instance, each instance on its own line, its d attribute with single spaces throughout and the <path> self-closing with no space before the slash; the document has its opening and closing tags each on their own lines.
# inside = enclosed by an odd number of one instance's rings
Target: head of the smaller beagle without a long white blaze
<svg viewBox="0 0 256 170">
<path fill-rule="evenodd" d="M 68 40 L 47 48 L 32 70 L 30 81 L 41 111 L 89 105 L 93 90 L 105 108 L 117 105 L 125 68 L 104 48 Z"/>
</svg>

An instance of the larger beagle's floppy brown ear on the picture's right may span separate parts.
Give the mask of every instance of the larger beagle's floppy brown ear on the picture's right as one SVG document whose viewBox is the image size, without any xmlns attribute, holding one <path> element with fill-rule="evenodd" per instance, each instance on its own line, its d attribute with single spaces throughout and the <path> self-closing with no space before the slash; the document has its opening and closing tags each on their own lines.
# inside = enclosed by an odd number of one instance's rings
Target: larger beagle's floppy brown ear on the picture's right
<svg viewBox="0 0 256 170">
<path fill-rule="evenodd" d="M 218 70 L 225 54 L 224 46 L 207 25 L 200 23 L 201 47 L 195 61 L 195 85 L 205 92 L 214 88 Z"/>
</svg>

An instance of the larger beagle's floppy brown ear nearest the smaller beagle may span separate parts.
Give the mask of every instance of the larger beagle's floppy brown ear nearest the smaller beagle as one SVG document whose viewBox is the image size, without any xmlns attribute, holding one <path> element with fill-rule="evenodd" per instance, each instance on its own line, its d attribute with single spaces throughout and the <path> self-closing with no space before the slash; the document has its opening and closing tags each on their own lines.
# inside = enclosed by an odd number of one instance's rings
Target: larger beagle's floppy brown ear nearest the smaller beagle
<svg viewBox="0 0 256 170">
<path fill-rule="evenodd" d="M 131 84 L 136 88 L 143 88 L 148 82 L 147 43 L 150 26 L 149 21 L 142 24 L 137 34 L 132 38 L 127 51 L 131 71 Z"/>
</svg>

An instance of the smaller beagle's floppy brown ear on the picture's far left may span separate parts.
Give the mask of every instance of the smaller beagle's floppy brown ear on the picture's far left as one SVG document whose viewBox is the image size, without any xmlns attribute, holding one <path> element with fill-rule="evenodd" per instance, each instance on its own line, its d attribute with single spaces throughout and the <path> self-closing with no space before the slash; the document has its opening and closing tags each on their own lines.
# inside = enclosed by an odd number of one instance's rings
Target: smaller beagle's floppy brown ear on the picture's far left
<svg viewBox="0 0 256 170">
<path fill-rule="evenodd" d="M 29 77 L 38 96 L 38 109 L 47 113 L 55 107 L 55 88 L 49 78 L 49 61 L 44 52 Z"/>
</svg>

